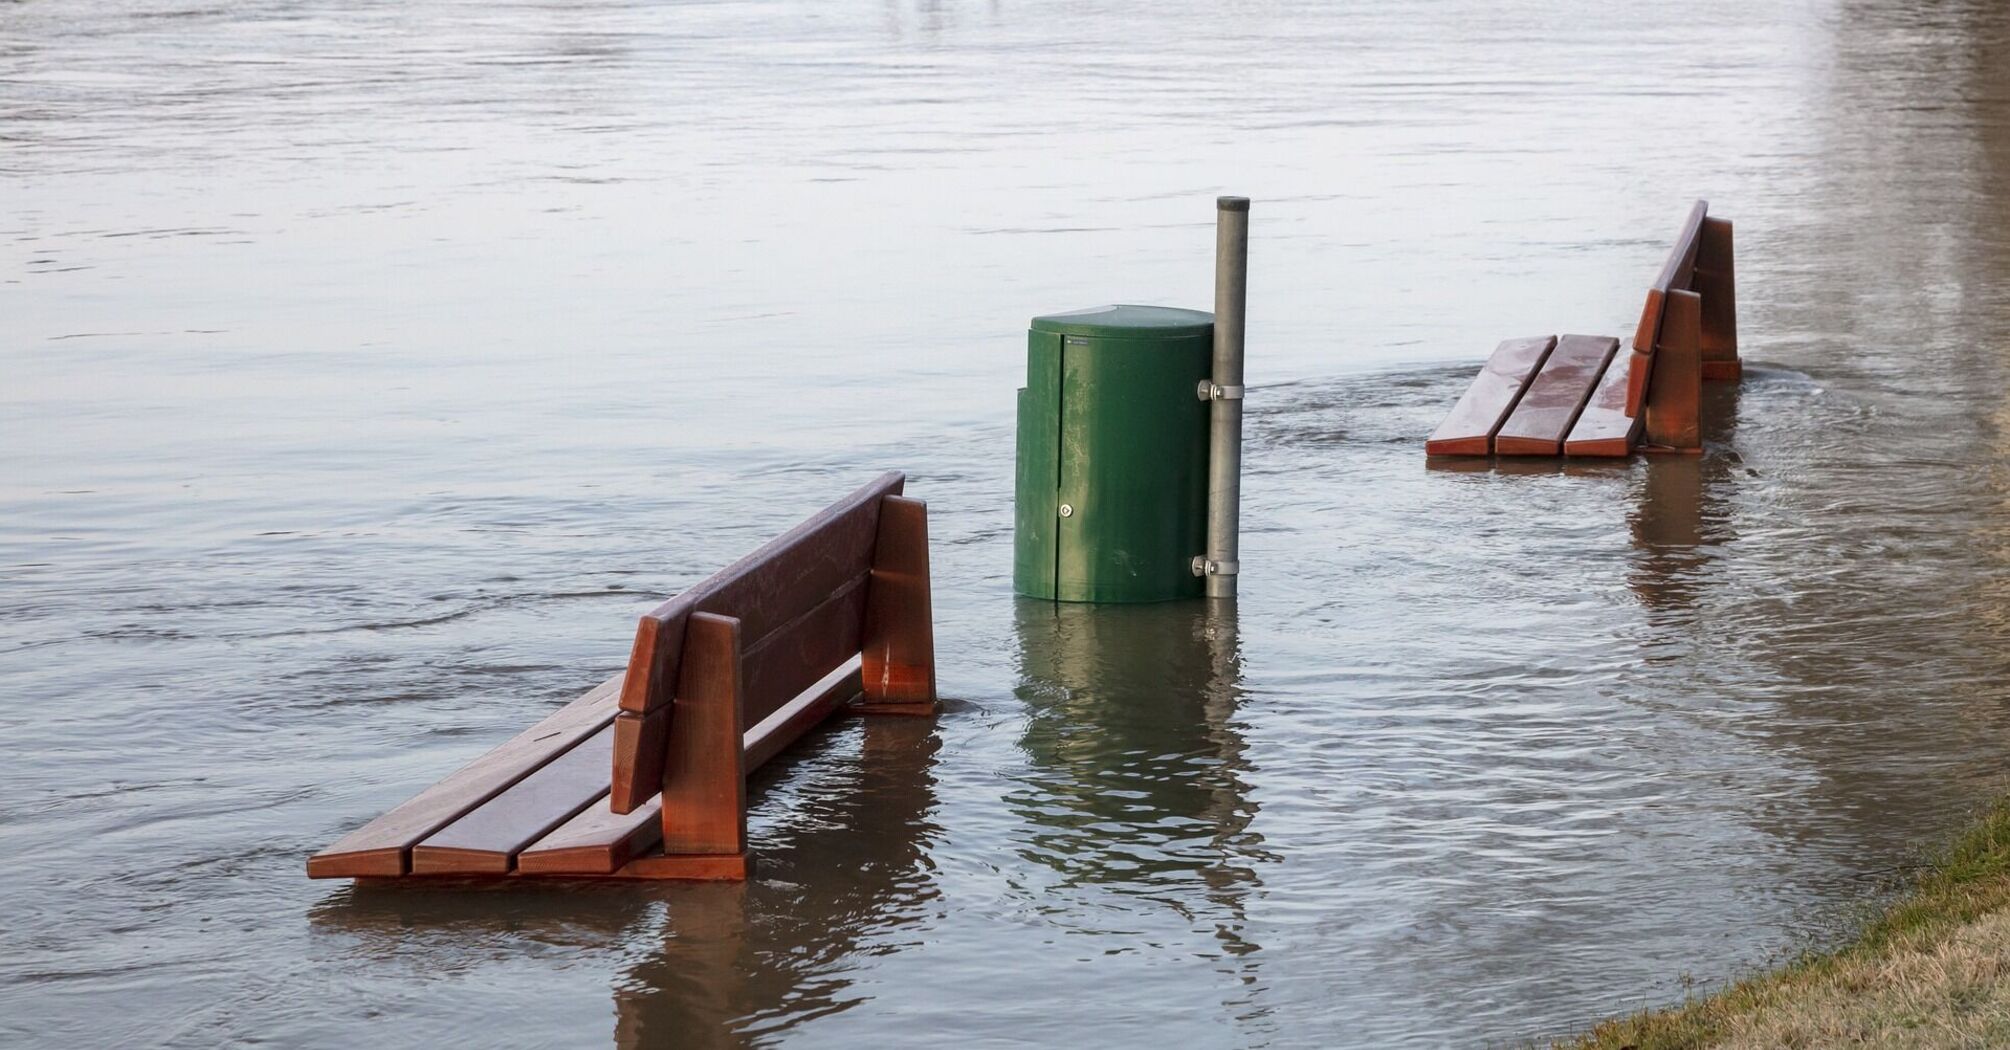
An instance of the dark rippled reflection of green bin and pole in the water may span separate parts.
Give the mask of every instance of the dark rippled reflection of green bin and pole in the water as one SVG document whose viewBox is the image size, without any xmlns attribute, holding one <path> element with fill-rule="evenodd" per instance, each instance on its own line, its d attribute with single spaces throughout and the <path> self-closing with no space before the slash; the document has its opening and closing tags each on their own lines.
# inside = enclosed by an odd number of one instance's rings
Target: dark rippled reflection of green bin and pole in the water
<svg viewBox="0 0 2010 1050">
<path fill-rule="evenodd" d="M 1234 609 L 1019 599 L 1015 624 L 1031 768 L 1007 797 L 1029 825 L 1019 855 L 1061 889 L 1158 899 L 1222 951 L 1254 953 L 1244 901 L 1266 855 L 1250 831 Z M 1192 915 L 1202 901 L 1212 913 Z"/>
</svg>

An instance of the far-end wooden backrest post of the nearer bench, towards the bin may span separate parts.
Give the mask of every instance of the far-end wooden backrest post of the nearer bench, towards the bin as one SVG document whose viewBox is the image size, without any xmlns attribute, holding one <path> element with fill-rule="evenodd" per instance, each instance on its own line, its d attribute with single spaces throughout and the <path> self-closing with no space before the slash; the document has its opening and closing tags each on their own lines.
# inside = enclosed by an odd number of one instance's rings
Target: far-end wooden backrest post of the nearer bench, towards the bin
<svg viewBox="0 0 2010 1050">
<path fill-rule="evenodd" d="M 935 611 L 929 601 L 929 505 L 880 497 L 866 624 L 860 714 L 935 714 Z"/>
</svg>

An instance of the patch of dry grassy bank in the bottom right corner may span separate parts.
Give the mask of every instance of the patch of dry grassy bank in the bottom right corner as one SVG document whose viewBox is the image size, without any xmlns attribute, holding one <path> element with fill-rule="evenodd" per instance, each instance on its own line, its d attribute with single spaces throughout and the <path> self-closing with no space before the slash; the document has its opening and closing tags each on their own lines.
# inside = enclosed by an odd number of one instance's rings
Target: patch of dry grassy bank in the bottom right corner
<svg viewBox="0 0 2010 1050">
<path fill-rule="evenodd" d="M 2010 1046 L 2010 801 L 1956 839 L 1853 941 L 1552 1046 Z"/>
</svg>

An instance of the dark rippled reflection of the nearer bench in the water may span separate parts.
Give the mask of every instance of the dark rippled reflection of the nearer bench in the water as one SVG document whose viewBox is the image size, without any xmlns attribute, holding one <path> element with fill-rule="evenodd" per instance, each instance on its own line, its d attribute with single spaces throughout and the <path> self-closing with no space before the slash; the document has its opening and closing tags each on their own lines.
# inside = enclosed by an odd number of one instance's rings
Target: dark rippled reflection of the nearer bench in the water
<svg viewBox="0 0 2010 1050">
<path fill-rule="evenodd" d="M 621 1048 L 742 1046 L 848 1010 L 870 998 L 854 988 L 858 957 L 927 933 L 939 740 L 929 718 L 862 718 L 812 740 L 750 784 L 748 883 L 358 885 L 312 921 L 372 966 L 472 970 L 527 941 L 623 943 L 641 957 L 615 980 Z"/>
</svg>

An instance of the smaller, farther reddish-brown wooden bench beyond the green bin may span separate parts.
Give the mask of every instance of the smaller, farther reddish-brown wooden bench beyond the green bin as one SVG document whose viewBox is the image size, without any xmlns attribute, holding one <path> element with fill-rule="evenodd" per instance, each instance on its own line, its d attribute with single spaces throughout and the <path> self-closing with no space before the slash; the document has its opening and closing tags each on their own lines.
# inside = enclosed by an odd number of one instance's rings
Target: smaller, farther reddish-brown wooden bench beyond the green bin
<svg viewBox="0 0 2010 1050">
<path fill-rule="evenodd" d="M 1696 201 L 1648 286 L 1632 350 L 1612 336 L 1536 336 L 1493 350 L 1425 441 L 1433 457 L 1624 457 L 1702 451 L 1702 380 L 1735 380 L 1731 221 Z"/>
</svg>

